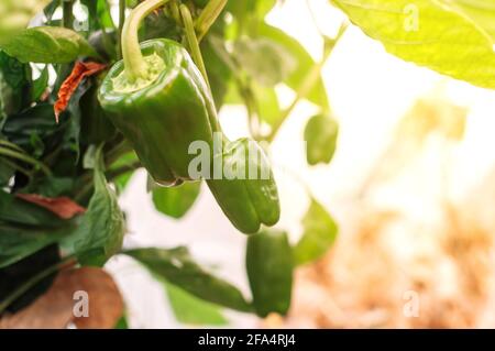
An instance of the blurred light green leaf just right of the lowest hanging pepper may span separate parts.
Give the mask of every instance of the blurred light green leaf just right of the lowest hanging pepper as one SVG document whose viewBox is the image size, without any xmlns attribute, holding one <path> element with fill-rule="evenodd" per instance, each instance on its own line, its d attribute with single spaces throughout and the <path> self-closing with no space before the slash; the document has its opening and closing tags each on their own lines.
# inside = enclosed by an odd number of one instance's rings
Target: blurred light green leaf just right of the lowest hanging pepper
<svg viewBox="0 0 495 351">
<path fill-rule="evenodd" d="M 336 241 L 338 227 L 327 210 L 315 199 L 302 219 L 304 233 L 294 248 L 297 264 L 306 264 L 323 256 Z"/>
</svg>

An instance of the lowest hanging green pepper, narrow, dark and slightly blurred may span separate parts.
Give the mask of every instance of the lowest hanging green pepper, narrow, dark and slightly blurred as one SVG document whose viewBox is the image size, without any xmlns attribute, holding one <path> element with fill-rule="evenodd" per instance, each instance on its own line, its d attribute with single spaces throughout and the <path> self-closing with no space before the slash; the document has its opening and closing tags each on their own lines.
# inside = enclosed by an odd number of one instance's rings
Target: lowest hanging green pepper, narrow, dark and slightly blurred
<svg viewBox="0 0 495 351">
<path fill-rule="evenodd" d="M 250 235 L 245 266 L 256 314 L 286 315 L 293 289 L 293 250 L 287 233 L 270 230 Z"/>
</svg>

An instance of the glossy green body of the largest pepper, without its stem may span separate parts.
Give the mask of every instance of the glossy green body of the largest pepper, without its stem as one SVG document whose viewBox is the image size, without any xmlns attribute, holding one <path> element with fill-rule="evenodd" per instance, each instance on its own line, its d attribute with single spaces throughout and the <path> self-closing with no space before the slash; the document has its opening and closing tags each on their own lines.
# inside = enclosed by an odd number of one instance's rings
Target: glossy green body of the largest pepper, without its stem
<svg viewBox="0 0 495 351">
<path fill-rule="evenodd" d="M 157 39 L 141 44 L 144 57 L 156 55 L 164 67 L 144 87 L 116 87 L 123 61 L 105 78 L 99 100 L 109 119 L 129 140 L 154 180 L 173 186 L 190 179 L 188 147 L 205 141 L 212 150 L 213 102 L 189 54 L 178 43 Z M 155 57 L 156 57 L 155 56 Z"/>
</svg>

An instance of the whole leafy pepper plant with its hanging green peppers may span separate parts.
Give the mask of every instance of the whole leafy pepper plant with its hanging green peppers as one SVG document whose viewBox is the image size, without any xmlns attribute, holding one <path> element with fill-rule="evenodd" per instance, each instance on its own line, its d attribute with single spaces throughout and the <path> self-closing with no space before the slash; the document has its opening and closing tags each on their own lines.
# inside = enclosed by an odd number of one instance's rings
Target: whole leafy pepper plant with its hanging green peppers
<svg viewBox="0 0 495 351">
<path fill-rule="evenodd" d="M 97 276 L 101 271 L 88 266 L 102 267 L 114 255 L 136 260 L 164 282 L 182 321 L 222 322 L 218 306 L 261 317 L 287 314 L 294 268 L 321 257 L 338 227 L 308 189 L 311 201 L 299 242 L 289 243 L 286 232 L 271 228 L 280 205 L 270 160 L 257 142 L 270 144 L 294 108 L 308 100 L 320 109 L 304 133 L 308 165 L 331 161 L 339 127 L 321 69 L 348 25 L 334 37 L 322 34 L 322 59 L 315 62 L 299 42 L 265 21 L 276 3 L 2 1 L 3 320 L 40 301 L 64 272 Z M 332 0 L 329 6 L 392 54 L 495 87 L 494 19 L 483 12 L 494 1 Z M 81 13 L 87 19 L 78 20 Z M 280 84 L 295 91 L 286 109 L 275 90 Z M 230 141 L 223 134 L 218 111 L 233 103 L 245 106 L 251 139 Z M 216 134 L 221 135 L 218 150 Z M 194 177 L 189 146 L 195 141 L 211 146 L 210 161 L 232 169 L 268 169 L 270 176 L 217 179 L 202 172 Z M 255 162 L 241 157 L 249 144 L 262 155 Z M 122 248 L 127 228 L 118 196 L 138 168 L 150 175 L 156 209 L 177 219 L 206 180 L 228 219 L 249 234 L 251 298 L 201 267 L 187 248 Z M 113 327 L 121 315 L 105 326 Z M 80 320 L 76 325 L 85 327 Z"/>
</svg>

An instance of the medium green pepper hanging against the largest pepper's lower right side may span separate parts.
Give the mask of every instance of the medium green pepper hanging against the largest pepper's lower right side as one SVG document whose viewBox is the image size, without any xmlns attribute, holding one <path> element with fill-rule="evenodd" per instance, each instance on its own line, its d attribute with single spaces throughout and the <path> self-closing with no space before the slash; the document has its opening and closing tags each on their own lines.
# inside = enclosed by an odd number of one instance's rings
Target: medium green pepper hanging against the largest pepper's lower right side
<svg viewBox="0 0 495 351">
<path fill-rule="evenodd" d="M 213 175 L 207 179 L 217 202 L 232 224 L 241 232 L 251 234 L 257 232 L 261 224 L 274 226 L 278 222 L 280 205 L 277 186 L 268 160 L 257 143 L 249 139 L 227 143 L 217 157 L 222 158 L 223 169 L 245 171 L 244 178 L 229 179 L 222 173 L 220 178 L 216 179 Z M 215 164 L 218 160 L 213 161 Z M 255 169 L 257 175 L 263 174 L 264 169 L 267 177 L 250 178 L 250 168 Z"/>
</svg>

